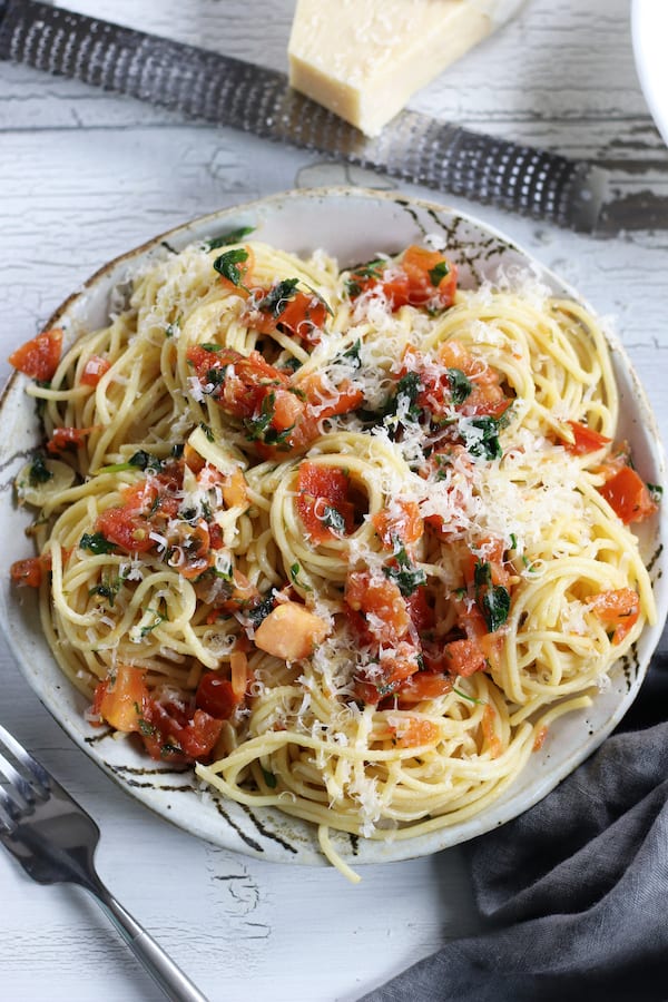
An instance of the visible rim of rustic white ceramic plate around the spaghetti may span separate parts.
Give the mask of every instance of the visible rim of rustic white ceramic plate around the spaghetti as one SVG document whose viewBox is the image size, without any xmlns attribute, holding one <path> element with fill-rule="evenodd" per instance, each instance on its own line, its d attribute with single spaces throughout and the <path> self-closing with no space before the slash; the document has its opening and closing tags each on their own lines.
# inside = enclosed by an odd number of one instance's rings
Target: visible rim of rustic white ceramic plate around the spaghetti
<svg viewBox="0 0 668 1002">
<path fill-rule="evenodd" d="M 342 266 L 356 264 L 379 250 L 395 253 L 425 234 L 445 237 L 448 253 L 460 268 L 462 284 L 477 285 L 493 278 L 500 267 L 533 268 L 559 295 L 577 298 L 556 275 L 541 268 L 527 254 L 500 234 L 452 209 L 353 189 L 324 189 L 277 195 L 250 205 L 196 219 L 104 267 L 51 318 L 63 324 L 69 334 L 101 326 L 107 322 L 109 296 L 132 269 L 157 255 L 180 249 L 193 240 L 216 236 L 238 226 L 253 225 L 257 237 L 296 253 L 324 247 L 337 256 Z M 646 479 L 664 482 L 661 449 L 656 422 L 628 358 L 616 342 L 612 357 L 621 393 L 622 426 L 619 436 L 628 439 Z M 45 706 L 73 740 L 111 775 L 128 793 L 180 827 L 226 848 L 289 863 L 322 862 L 314 829 L 274 809 L 250 811 L 202 793 L 190 773 L 179 773 L 165 764 L 155 764 L 135 750 L 127 740 L 100 737 L 84 719 L 86 700 L 61 676 L 42 637 L 37 603 L 30 589 L 14 590 L 9 583 L 9 566 L 28 556 L 30 544 L 23 538 L 29 515 L 11 503 L 10 484 L 39 442 L 33 402 L 23 392 L 24 380 L 14 376 L 0 405 L 3 434 L 0 442 L 0 469 L 3 471 L 0 502 L 0 609 L 9 641 L 29 684 Z M 668 608 L 668 573 L 660 544 L 662 520 L 641 525 L 641 546 L 656 581 L 659 616 Z M 664 546 L 664 554 L 668 548 Z M 664 573 L 661 574 L 661 571 Z M 632 657 L 618 664 L 612 684 L 587 711 L 560 718 L 550 728 L 541 749 L 502 799 L 491 809 L 463 824 L 406 842 L 370 842 L 332 833 L 338 852 L 353 863 L 386 862 L 425 855 L 480 835 L 517 816 L 544 796 L 589 755 L 609 734 L 632 703 L 645 675 L 660 627 L 647 629 Z"/>
</svg>

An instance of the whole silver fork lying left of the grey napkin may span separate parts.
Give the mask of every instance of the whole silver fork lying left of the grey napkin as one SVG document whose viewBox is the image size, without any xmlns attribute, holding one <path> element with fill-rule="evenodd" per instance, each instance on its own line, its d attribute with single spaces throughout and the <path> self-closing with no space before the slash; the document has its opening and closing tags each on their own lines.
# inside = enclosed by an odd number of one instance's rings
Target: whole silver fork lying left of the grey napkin
<svg viewBox="0 0 668 1002">
<path fill-rule="evenodd" d="M 38 883 L 89 891 L 168 999 L 207 1002 L 100 881 L 94 863 L 99 837 L 90 815 L 0 724 L 0 842 Z"/>
</svg>

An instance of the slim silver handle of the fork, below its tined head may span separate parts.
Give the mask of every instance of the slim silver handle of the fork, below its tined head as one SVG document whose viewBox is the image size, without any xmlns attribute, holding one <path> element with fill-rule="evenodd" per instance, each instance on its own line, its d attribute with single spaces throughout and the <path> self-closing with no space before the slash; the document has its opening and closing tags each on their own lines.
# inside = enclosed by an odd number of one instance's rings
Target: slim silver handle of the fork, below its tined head
<svg viewBox="0 0 668 1002">
<path fill-rule="evenodd" d="M 163 989 L 171 1002 L 208 1002 L 190 979 L 165 953 L 161 946 L 150 936 L 129 912 L 116 901 L 104 884 L 88 887 L 96 901 L 107 913 L 118 932 L 126 941 L 137 960 L 144 965 L 154 981 Z"/>
</svg>

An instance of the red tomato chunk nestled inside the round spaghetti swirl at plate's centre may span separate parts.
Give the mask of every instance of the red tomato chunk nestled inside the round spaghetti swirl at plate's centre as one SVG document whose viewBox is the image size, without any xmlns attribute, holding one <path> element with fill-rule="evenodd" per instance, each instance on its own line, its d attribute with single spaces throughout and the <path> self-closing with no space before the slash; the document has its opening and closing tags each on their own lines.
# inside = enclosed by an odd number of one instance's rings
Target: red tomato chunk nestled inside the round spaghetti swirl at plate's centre
<svg viewBox="0 0 668 1002">
<path fill-rule="evenodd" d="M 340 539 L 352 532 L 355 509 L 348 500 L 350 487 L 350 477 L 340 466 L 299 464 L 297 511 L 314 542 Z"/>
</svg>

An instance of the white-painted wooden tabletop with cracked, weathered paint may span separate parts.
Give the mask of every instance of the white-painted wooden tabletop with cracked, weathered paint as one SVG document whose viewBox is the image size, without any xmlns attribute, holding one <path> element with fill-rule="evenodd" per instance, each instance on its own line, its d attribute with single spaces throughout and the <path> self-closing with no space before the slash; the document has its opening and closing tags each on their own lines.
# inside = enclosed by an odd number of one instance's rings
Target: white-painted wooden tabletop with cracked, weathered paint
<svg viewBox="0 0 668 1002">
<path fill-rule="evenodd" d="M 291 0 L 71 0 L 71 8 L 277 69 Z M 612 170 L 620 197 L 668 196 L 668 151 L 640 92 L 627 0 L 529 0 L 413 101 L 479 130 Z M 188 217 L 283 189 L 384 177 L 82 85 L 0 65 L 0 337 L 4 358 L 105 261 Z M 419 188 L 404 190 L 434 197 Z M 668 431 L 668 214 L 593 239 L 446 194 L 578 286 L 621 337 Z M 8 366 L 0 363 L 4 379 Z M 3 503 L 8 503 L 6 497 Z M 212 1002 L 352 1000 L 478 927 L 461 852 L 371 866 L 266 864 L 154 817 L 75 748 L 0 641 L 0 719 L 89 808 L 102 878 Z M 0 854 L 0 998 L 161 995 L 82 892 L 42 888 Z"/>
</svg>

